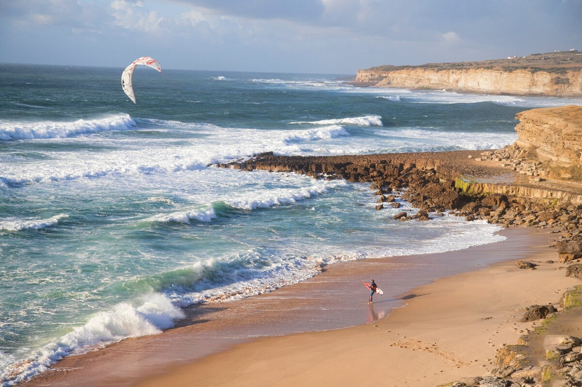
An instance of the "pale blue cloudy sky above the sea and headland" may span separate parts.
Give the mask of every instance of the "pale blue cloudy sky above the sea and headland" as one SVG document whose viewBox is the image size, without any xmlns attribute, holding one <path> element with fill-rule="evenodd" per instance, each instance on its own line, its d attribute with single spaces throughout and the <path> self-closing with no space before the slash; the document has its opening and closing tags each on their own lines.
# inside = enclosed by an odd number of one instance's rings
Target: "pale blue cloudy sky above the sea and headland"
<svg viewBox="0 0 582 387">
<path fill-rule="evenodd" d="M 582 0 L 0 0 L 0 62 L 355 74 L 582 51 Z"/>
</svg>

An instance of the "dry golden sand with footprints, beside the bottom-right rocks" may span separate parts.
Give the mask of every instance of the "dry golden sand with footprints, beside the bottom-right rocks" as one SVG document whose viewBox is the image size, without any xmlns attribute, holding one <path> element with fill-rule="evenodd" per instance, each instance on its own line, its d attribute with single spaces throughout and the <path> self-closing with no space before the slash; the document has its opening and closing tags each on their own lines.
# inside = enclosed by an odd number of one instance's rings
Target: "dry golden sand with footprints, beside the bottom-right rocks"
<svg viewBox="0 0 582 387">
<path fill-rule="evenodd" d="M 514 229 L 516 230 L 516 229 Z M 512 230 L 512 232 L 515 232 Z M 517 229 L 524 231 L 525 229 Z M 537 270 L 512 258 L 486 269 L 437 279 L 402 295 L 407 306 L 374 324 L 261 338 L 173 365 L 136 386 L 157 385 L 382 385 L 437 386 L 494 368 L 496 351 L 517 342 L 540 321 L 519 322 L 531 304 L 556 304 L 580 281 L 565 277 L 548 235 L 527 230 L 526 255 Z M 521 235 L 520 237 L 524 237 Z M 508 252 L 519 237 L 492 244 L 486 254 Z M 486 245 L 487 246 L 487 245 Z"/>
</svg>

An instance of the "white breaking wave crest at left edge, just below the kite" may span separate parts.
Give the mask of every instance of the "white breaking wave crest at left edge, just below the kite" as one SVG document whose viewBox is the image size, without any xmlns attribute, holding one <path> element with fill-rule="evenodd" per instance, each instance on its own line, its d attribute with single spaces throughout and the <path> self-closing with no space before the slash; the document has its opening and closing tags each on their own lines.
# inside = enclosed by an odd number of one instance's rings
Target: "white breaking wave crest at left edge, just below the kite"
<svg viewBox="0 0 582 387">
<path fill-rule="evenodd" d="M 136 129 L 135 121 L 127 114 L 73 122 L 15 122 L 0 120 L 0 140 L 56 139 L 73 134 Z"/>
</svg>

